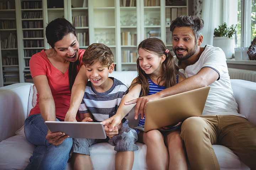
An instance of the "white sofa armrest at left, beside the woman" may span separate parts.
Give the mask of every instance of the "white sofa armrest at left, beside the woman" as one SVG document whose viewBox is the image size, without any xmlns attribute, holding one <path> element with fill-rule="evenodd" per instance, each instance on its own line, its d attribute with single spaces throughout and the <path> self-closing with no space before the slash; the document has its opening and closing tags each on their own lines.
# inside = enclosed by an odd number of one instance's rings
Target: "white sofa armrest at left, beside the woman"
<svg viewBox="0 0 256 170">
<path fill-rule="evenodd" d="M 0 141 L 15 135 L 24 125 L 32 83 L 0 87 Z"/>
</svg>

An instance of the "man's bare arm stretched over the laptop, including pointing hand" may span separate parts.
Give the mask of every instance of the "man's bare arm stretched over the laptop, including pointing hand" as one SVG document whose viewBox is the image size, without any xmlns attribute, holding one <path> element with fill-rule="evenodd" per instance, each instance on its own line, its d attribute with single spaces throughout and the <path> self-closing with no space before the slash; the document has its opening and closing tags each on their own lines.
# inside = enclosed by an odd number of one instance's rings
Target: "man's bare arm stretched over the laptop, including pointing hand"
<svg viewBox="0 0 256 170">
<path fill-rule="evenodd" d="M 172 87 L 157 92 L 154 95 L 139 97 L 124 104 L 129 105 L 137 103 L 135 107 L 135 117 L 138 117 L 139 114 L 141 115 L 141 117 L 144 117 L 147 102 L 166 96 L 179 94 L 185 91 L 198 89 L 200 87 L 206 87 L 212 84 L 218 78 L 219 74 L 215 70 L 209 67 L 204 67 L 196 75 L 193 75 Z"/>
</svg>

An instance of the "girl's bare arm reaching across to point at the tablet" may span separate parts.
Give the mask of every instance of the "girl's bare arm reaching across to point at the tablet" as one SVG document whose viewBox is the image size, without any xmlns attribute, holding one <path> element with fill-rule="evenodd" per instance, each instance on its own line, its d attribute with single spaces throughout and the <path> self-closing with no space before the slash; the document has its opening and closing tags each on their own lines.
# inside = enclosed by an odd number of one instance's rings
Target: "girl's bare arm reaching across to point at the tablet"
<svg viewBox="0 0 256 170">
<path fill-rule="evenodd" d="M 137 78 L 135 78 L 132 83 L 136 82 L 136 79 Z M 103 125 L 107 125 L 110 131 L 116 129 L 116 126 L 121 123 L 122 119 L 126 116 L 126 114 L 129 113 L 130 110 L 132 110 L 132 108 L 135 106 L 135 104 L 124 105 L 124 103 L 138 98 L 140 91 L 141 85 L 138 84 L 133 86 L 132 89 L 130 89 L 129 92 L 121 100 L 116 114 L 113 115 L 111 118 L 102 121 Z M 137 117 L 134 118 L 137 119 Z"/>
</svg>

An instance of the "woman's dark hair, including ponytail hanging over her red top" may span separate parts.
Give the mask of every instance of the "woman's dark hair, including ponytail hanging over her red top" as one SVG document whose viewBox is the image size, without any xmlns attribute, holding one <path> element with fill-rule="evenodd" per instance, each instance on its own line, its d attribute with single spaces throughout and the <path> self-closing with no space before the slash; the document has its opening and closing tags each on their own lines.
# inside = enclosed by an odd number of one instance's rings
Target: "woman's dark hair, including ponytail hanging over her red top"
<svg viewBox="0 0 256 170">
<path fill-rule="evenodd" d="M 48 44 L 54 49 L 55 42 L 62 40 L 64 36 L 69 33 L 73 33 L 76 37 L 75 27 L 65 18 L 57 18 L 51 21 L 46 26 L 46 39 Z M 78 73 L 78 68 L 80 66 L 80 61 L 69 63 L 69 89 L 71 91 L 74 84 L 76 75 Z"/>
</svg>

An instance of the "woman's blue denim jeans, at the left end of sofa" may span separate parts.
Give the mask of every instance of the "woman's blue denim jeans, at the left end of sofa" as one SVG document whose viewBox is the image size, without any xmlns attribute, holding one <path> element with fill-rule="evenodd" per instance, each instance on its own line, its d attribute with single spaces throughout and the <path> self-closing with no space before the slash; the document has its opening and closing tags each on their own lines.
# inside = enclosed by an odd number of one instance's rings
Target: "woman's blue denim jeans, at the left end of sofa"
<svg viewBox="0 0 256 170">
<path fill-rule="evenodd" d="M 72 138 L 66 138 L 58 146 L 50 144 L 46 140 L 48 128 L 41 114 L 30 115 L 25 120 L 24 131 L 27 140 L 37 146 L 25 170 L 63 170 L 66 168 L 73 145 Z"/>
</svg>

